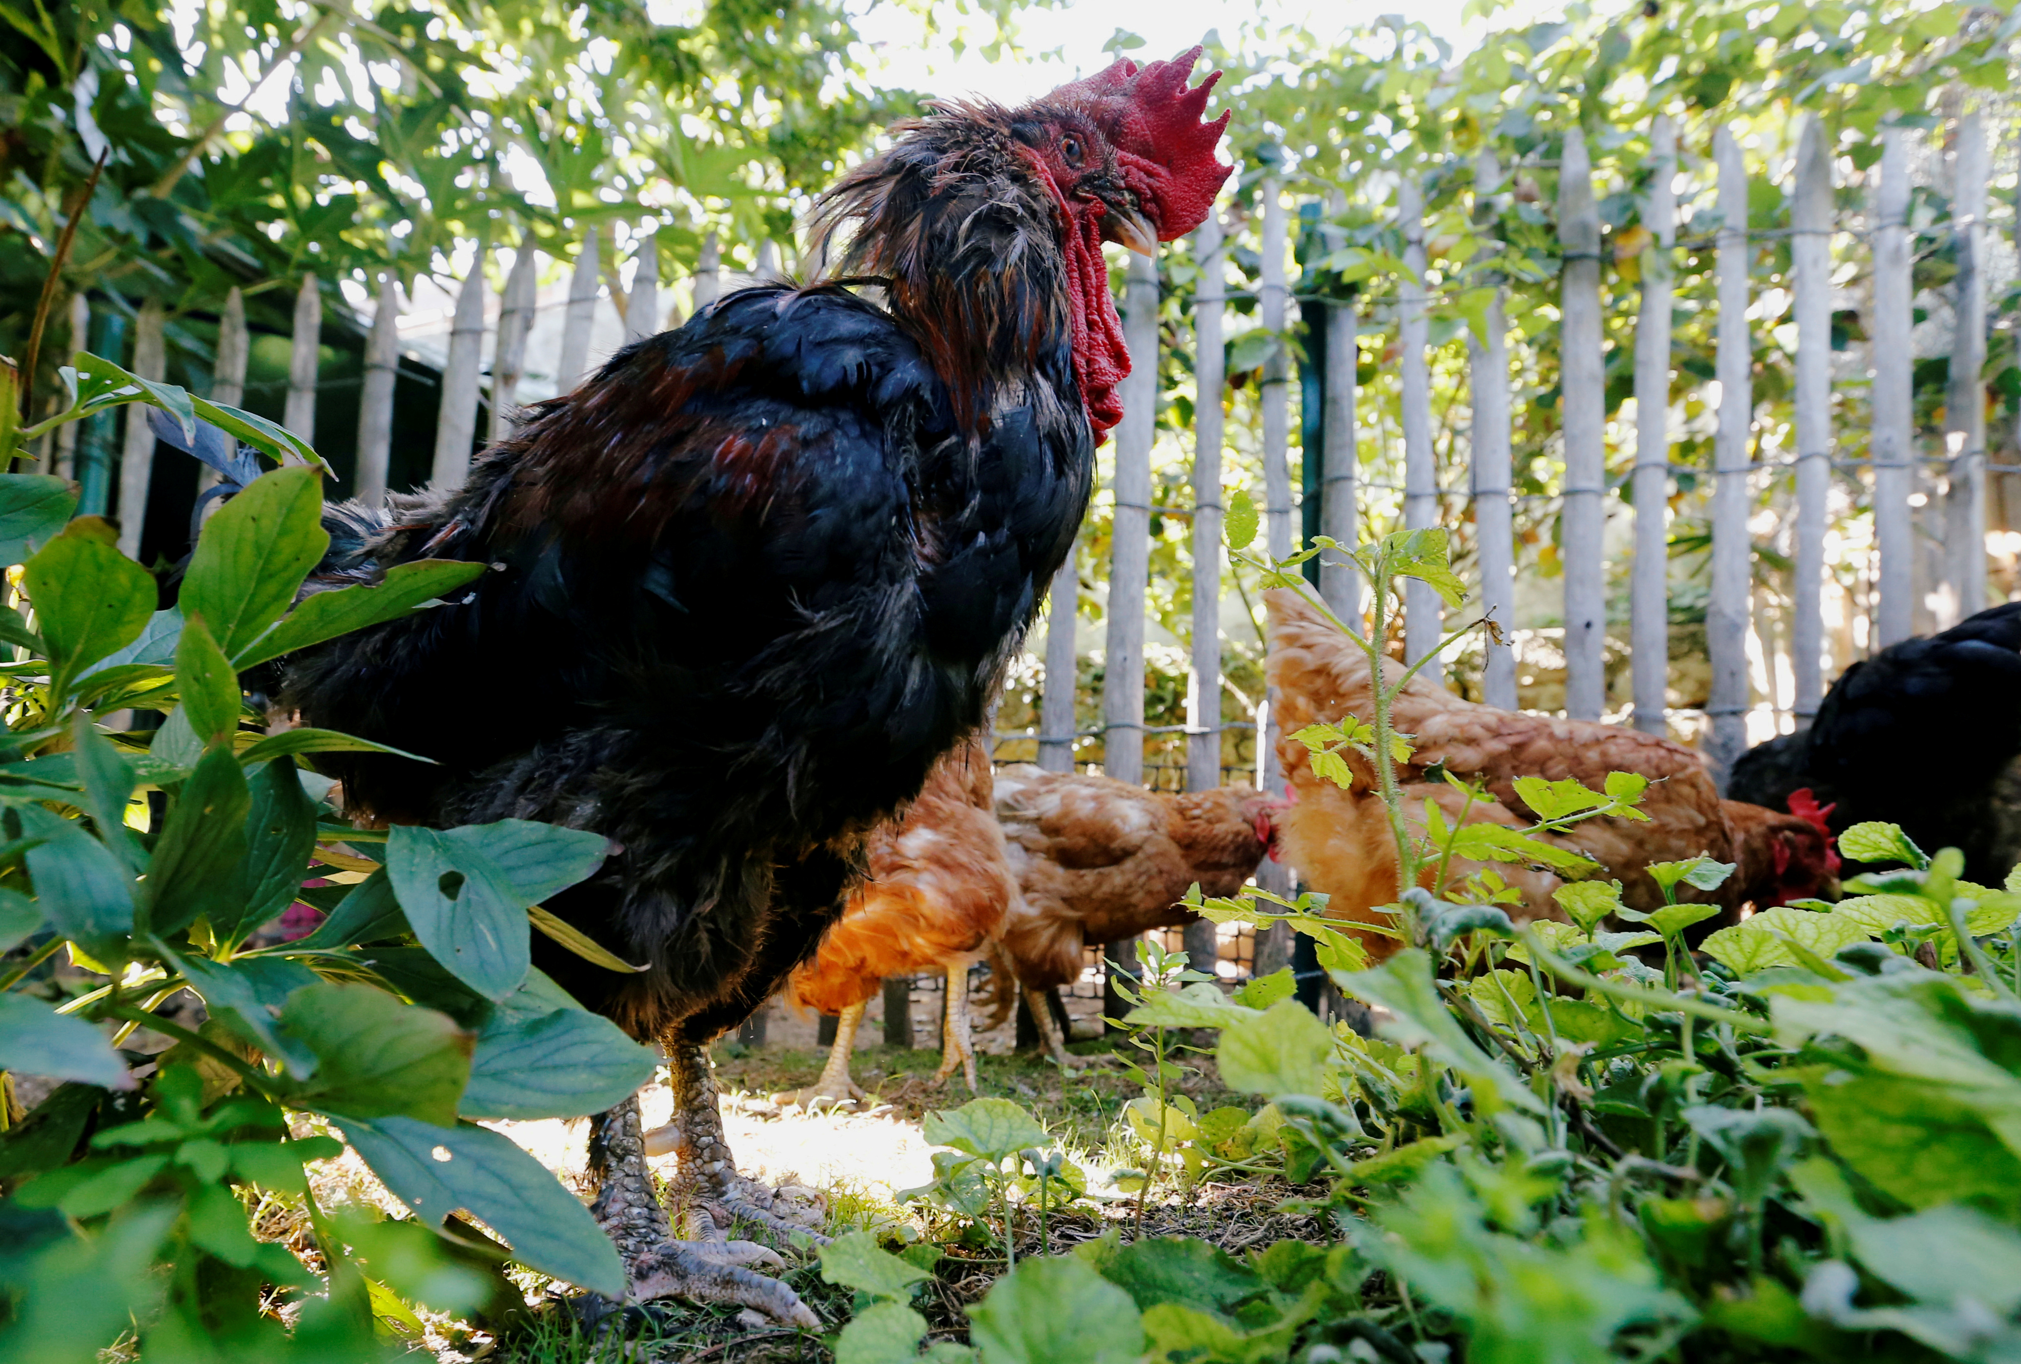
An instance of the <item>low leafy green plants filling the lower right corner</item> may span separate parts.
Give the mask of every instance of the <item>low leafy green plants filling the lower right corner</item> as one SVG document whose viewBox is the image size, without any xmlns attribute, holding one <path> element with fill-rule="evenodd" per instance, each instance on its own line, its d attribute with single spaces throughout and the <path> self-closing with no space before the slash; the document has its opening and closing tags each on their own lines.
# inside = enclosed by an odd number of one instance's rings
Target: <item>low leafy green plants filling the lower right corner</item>
<svg viewBox="0 0 2021 1364">
<path fill-rule="evenodd" d="M 1435 535 L 1358 552 L 1372 639 L 1399 576 L 1441 580 Z M 1257 566 L 1295 586 L 1295 564 Z M 1376 715 L 1297 738 L 1401 758 L 1394 689 Z M 1732 871 L 1704 857 L 1651 869 L 1671 901 L 1655 913 L 1576 881 L 1570 923 L 1518 928 L 1485 879 L 1443 883 L 1465 829 L 1415 826 L 1374 766 L 1405 865 L 1433 869 L 1390 907 L 1403 946 L 1382 964 L 1326 923 L 1324 897 L 1196 903 L 1312 932 L 1334 982 L 1384 1010 L 1376 1037 L 1322 1027 L 1271 982 L 1239 1000 L 1146 992 L 1132 1014 L 1217 1029 L 1223 1083 L 1267 1099 L 1245 1144 L 1190 1144 L 1188 1178 L 1281 1170 L 1338 1241 L 1233 1259 L 1112 1233 L 1025 1259 L 972 1313 L 980 1364 L 2021 1358 L 2021 871 L 1970 885 L 1956 851 L 1861 824 L 1847 855 L 1900 871 L 1698 954 L 1681 932 L 1706 907 L 1671 891 Z M 1639 798 L 1629 774 L 1526 792 L 1544 824 L 1633 818 Z M 1530 857 L 1506 833 L 1504 859 Z M 1061 1330 L 1069 1309 L 1087 1330 Z M 839 1358 L 918 1358 L 918 1318 L 877 1311 L 905 1330 L 853 1326 Z"/>
</svg>

